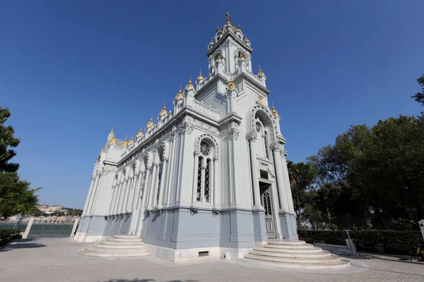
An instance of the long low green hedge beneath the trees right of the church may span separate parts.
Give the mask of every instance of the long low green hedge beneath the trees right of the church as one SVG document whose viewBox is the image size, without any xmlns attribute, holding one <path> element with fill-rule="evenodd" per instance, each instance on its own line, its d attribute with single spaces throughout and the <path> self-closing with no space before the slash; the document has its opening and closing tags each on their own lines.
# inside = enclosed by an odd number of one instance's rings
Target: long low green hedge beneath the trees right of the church
<svg viewBox="0 0 424 282">
<path fill-rule="evenodd" d="M 298 231 L 300 238 L 311 238 L 313 242 L 325 241 L 326 244 L 346 245 L 346 231 Z M 357 247 L 374 248 L 375 245 L 408 245 L 418 247 L 424 245 L 420 231 L 349 231 L 349 235 Z"/>
</svg>

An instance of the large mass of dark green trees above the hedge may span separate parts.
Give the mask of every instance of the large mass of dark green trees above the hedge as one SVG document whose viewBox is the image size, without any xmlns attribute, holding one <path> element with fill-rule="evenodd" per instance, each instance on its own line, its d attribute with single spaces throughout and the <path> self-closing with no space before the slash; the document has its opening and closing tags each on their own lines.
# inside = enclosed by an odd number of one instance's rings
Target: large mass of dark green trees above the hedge
<svg viewBox="0 0 424 282">
<path fill-rule="evenodd" d="M 423 117 L 354 125 L 308 158 L 317 170 L 317 209 L 418 221 L 424 216 Z"/>
</svg>

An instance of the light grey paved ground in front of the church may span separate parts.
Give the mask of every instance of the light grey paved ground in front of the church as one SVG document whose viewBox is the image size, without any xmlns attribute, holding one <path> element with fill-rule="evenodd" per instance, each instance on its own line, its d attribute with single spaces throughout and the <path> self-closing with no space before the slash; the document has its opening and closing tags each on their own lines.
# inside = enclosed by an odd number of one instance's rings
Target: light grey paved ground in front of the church
<svg viewBox="0 0 424 282">
<path fill-rule="evenodd" d="M 423 281 L 424 264 L 362 256 L 349 269 L 288 269 L 242 261 L 172 264 L 151 257 L 83 257 L 88 244 L 66 238 L 17 240 L 0 248 L 0 281 L 207 282 L 207 281 Z"/>
</svg>

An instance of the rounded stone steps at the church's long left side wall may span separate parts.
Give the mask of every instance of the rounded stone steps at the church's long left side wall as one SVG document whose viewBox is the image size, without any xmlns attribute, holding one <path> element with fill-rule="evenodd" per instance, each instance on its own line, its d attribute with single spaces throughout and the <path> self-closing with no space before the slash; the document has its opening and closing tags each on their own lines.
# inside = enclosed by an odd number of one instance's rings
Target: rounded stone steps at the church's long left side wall
<svg viewBox="0 0 424 282">
<path fill-rule="evenodd" d="M 144 243 L 136 235 L 114 235 L 113 238 L 96 242 L 77 253 L 90 257 L 143 257 L 148 255 Z"/>
</svg>

